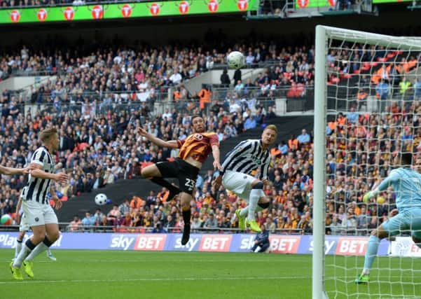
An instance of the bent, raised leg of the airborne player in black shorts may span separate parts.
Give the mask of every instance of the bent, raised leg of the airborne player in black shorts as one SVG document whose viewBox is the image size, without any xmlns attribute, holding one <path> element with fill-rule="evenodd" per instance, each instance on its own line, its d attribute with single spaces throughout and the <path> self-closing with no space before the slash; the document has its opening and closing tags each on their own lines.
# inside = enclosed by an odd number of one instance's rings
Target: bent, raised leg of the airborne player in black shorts
<svg viewBox="0 0 421 299">
<path fill-rule="evenodd" d="M 177 165 L 175 162 L 158 162 L 156 164 L 146 166 L 142 169 L 142 176 L 145 179 L 150 179 L 153 183 L 170 190 L 168 200 L 172 200 L 175 195 L 181 192 L 179 188 L 173 186 L 169 181 L 164 179 L 164 177 L 177 177 Z"/>
</svg>

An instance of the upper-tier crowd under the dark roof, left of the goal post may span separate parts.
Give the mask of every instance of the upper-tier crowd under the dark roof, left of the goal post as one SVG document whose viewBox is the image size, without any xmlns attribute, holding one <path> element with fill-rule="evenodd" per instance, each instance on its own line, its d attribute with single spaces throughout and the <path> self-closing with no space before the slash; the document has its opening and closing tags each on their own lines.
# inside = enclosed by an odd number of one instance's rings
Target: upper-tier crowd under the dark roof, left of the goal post
<svg viewBox="0 0 421 299">
<path fill-rule="evenodd" d="M 258 74 L 255 81 L 242 81 L 241 71 L 233 78 L 221 77 L 221 85 L 232 85 L 236 92 L 247 95 L 258 88 L 263 95 L 274 90 L 299 85 L 312 85 L 314 78 L 314 47 L 280 47 L 275 42 L 233 45 L 246 55 L 247 67 L 272 66 Z M 101 47 L 82 54 L 81 50 L 56 50 L 55 53 L 35 51 L 22 46 L 20 53 L 0 57 L 0 78 L 14 74 L 57 74 L 57 81 L 46 81 L 33 88 L 27 98 L 32 102 L 83 102 L 113 94 L 113 100 L 144 101 L 154 92 L 165 92 L 198 74 L 225 64 L 231 48 L 181 48 L 165 46 L 149 48 Z M 179 99 L 188 93 L 181 86 Z M 197 97 L 197 95 L 191 95 Z M 58 98 L 56 100 L 56 98 Z"/>
</svg>

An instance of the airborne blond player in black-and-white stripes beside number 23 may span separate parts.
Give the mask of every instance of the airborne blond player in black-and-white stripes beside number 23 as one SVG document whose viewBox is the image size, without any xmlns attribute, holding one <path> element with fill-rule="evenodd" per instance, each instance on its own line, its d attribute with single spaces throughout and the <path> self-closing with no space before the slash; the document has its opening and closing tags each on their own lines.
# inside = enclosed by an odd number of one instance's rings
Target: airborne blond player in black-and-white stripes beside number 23
<svg viewBox="0 0 421 299">
<path fill-rule="evenodd" d="M 277 137 L 277 127 L 268 125 L 263 130 L 261 139 L 248 139 L 240 142 L 232 151 L 226 154 L 222 171 L 214 185 L 219 188 L 221 183 L 238 197 L 249 202 L 244 209 L 237 209 L 238 227 L 244 230 L 249 227 L 255 232 L 261 232 L 254 217 L 256 209 L 269 207 L 269 199 L 263 193 L 263 186 L 268 184 L 268 168 L 270 163 L 269 146 Z M 258 179 L 251 176 L 252 170 L 260 167 Z M 247 219 L 246 219 L 247 216 Z"/>
</svg>

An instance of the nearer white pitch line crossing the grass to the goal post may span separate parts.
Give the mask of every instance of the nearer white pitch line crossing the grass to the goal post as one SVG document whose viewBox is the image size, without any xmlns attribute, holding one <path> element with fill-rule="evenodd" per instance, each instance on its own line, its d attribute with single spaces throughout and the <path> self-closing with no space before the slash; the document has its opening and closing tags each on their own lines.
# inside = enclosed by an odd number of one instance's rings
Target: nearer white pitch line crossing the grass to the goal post
<svg viewBox="0 0 421 299">
<path fill-rule="evenodd" d="M 125 281 L 207 281 L 207 280 L 275 280 L 275 279 L 310 279 L 310 276 L 279 276 L 279 277 L 184 277 L 184 278 L 131 278 L 131 279 L 62 279 L 62 280 L 24 280 L 0 281 L 0 284 L 62 284 L 89 282 L 125 282 Z"/>
</svg>

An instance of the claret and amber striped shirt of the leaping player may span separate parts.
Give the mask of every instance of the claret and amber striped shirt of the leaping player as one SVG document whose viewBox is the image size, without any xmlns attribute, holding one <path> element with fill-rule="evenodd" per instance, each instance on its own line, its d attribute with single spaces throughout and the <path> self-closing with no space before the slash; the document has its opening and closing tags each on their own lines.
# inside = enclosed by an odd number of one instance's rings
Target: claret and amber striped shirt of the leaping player
<svg viewBox="0 0 421 299">
<path fill-rule="evenodd" d="M 209 153 L 212 152 L 212 146 L 219 146 L 219 139 L 214 132 L 195 133 L 184 140 L 177 140 L 177 145 L 180 148 L 179 158 L 186 160 L 186 158 L 191 157 L 203 163 Z"/>
</svg>

